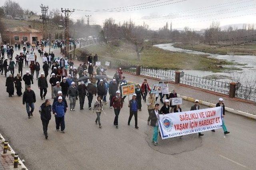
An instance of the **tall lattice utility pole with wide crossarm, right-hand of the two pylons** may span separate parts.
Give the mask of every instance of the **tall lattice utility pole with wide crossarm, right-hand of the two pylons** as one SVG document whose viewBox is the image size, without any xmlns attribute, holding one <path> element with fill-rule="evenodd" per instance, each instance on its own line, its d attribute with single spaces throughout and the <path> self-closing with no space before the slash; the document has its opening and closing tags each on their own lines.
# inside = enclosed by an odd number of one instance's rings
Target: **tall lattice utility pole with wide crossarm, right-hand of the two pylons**
<svg viewBox="0 0 256 170">
<path fill-rule="evenodd" d="M 65 14 L 65 40 L 66 40 L 66 47 L 65 47 L 65 57 L 69 57 L 69 16 L 74 12 L 74 9 L 71 11 L 69 9 L 61 8 L 61 12 Z"/>
</svg>

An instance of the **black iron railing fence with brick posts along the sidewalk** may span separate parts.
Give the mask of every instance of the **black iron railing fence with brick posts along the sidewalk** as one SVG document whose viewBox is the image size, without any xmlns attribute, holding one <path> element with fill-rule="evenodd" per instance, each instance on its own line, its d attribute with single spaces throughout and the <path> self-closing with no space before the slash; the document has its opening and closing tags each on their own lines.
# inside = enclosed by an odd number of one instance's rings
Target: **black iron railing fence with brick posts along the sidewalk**
<svg viewBox="0 0 256 170">
<path fill-rule="evenodd" d="M 102 62 L 102 65 L 105 65 L 105 62 L 107 60 L 100 59 L 100 61 Z M 229 97 L 236 97 L 239 99 L 256 102 L 256 88 L 243 87 L 239 83 L 226 83 L 222 81 L 206 79 L 204 77 L 184 74 L 183 72 L 179 71 L 174 72 L 171 70 L 131 65 L 126 62 L 120 63 L 120 61 L 115 60 L 110 61 L 110 68 L 117 69 L 119 67 L 121 67 L 123 71 L 126 71 L 128 73 L 174 81 L 175 83 L 181 83 L 200 89 L 229 95 Z"/>
</svg>

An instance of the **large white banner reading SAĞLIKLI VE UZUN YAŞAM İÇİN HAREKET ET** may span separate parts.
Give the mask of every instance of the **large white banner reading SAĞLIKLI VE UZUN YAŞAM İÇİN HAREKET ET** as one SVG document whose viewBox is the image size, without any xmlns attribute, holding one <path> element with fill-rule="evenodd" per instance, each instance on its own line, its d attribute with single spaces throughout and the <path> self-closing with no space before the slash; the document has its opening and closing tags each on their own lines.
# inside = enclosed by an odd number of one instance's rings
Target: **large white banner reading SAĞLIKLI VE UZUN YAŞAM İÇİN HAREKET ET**
<svg viewBox="0 0 256 170">
<path fill-rule="evenodd" d="M 222 128 L 222 107 L 159 115 L 162 139 Z"/>
</svg>

